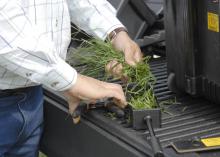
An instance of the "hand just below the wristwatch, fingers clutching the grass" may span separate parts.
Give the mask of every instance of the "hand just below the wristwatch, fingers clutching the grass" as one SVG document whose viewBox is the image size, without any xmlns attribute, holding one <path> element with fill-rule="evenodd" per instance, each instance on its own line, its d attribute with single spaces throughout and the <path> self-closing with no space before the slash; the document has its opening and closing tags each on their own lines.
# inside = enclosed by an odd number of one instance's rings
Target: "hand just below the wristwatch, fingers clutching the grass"
<svg viewBox="0 0 220 157">
<path fill-rule="evenodd" d="M 125 61 L 131 66 L 135 66 L 136 63 L 140 62 L 142 59 L 142 52 L 139 46 L 128 36 L 127 32 L 121 31 L 112 40 L 114 48 L 122 51 L 125 56 Z M 122 65 L 117 61 L 113 60 L 106 65 L 106 71 L 115 77 L 123 77 Z"/>
</svg>

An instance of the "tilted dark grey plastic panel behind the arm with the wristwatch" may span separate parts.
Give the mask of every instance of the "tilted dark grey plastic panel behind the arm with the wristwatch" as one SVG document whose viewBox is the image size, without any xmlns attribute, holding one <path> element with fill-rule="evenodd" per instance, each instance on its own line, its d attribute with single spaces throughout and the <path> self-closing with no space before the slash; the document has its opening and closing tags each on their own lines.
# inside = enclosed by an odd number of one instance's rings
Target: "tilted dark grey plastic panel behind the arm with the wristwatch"
<svg viewBox="0 0 220 157">
<path fill-rule="evenodd" d="M 156 21 L 156 14 L 143 0 L 108 0 L 117 10 L 118 19 L 126 26 L 132 39 L 143 37 Z"/>
</svg>

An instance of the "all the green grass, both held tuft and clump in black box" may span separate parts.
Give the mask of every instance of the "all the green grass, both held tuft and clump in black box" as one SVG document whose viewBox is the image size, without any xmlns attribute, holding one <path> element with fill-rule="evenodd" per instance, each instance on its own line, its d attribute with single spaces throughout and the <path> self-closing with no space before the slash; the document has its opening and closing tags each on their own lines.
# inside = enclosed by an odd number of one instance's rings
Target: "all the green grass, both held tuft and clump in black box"
<svg viewBox="0 0 220 157">
<path fill-rule="evenodd" d="M 74 60 L 84 65 L 80 73 L 90 77 L 101 78 L 104 75 L 103 78 L 108 80 L 112 76 L 105 72 L 105 66 L 112 60 L 122 64 L 122 76 L 127 78 L 124 90 L 125 94 L 129 95 L 128 103 L 134 109 L 150 109 L 157 106 L 151 88 L 155 79 L 148 64 L 149 57 L 143 58 L 136 66 L 130 66 L 125 62 L 124 54 L 114 49 L 110 41 L 104 42 L 96 38 L 83 40 L 72 54 Z M 131 84 L 132 87 L 129 86 Z"/>
</svg>

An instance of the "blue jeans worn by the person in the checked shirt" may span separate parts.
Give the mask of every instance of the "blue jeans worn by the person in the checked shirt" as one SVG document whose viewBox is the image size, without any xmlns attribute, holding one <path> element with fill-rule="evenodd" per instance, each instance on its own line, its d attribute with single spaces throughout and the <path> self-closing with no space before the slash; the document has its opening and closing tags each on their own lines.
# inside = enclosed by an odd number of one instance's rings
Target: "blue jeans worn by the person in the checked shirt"
<svg viewBox="0 0 220 157">
<path fill-rule="evenodd" d="M 0 157 L 37 157 L 42 129 L 41 86 L 0 93 Z"/>
</svg>

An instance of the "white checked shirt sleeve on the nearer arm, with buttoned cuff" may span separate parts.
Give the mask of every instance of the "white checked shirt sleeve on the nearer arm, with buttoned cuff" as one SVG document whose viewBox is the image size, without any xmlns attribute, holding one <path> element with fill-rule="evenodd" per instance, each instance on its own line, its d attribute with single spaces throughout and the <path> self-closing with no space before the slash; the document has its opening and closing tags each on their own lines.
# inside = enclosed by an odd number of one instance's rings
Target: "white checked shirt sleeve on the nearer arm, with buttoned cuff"
<svg viewBox="0 0 220 157">
<path fill-rule="evenodd" d="M 2 0 L 0 8 L 0 66 L 55 91 L 74 85 L 76 70 L 58 55 L 50 39 L 39 35 L 20 3 Z"/>
</svg>

